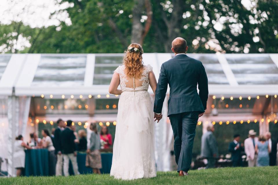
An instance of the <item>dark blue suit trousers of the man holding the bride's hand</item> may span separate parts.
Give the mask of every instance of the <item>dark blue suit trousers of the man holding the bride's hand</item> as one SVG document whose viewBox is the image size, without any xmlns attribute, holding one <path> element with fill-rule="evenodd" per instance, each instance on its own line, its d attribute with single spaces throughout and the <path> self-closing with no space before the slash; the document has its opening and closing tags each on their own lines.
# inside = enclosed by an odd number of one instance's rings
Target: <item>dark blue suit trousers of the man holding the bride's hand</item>
<svg viewBox="0 0 278 185">
<path fill-rule="evenodd" d="M 190 169 L 198 116 L 197 111 L 169 115 L 174 133 L 174 153 L 178 172 L 187 172 Z"/>
</svg>

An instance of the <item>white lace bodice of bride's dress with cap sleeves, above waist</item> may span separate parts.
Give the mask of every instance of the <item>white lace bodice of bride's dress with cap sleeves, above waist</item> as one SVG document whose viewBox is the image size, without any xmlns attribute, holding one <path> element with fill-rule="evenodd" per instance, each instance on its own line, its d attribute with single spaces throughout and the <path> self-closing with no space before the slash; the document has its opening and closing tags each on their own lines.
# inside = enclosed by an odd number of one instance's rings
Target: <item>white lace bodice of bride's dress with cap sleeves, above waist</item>
<svg viewBox="0 0 278 185">
<path fill-rule="evenodd" d="M 129 82 L 126 74 L 125 74 L 125 65 L 119 66 L 115 72 L 119 74 L 120 76 L 120 86 L 122 89 L 122 92 L 125 91 L 147 91 L 149 88 L 149 72 L 152 71 L 153 68 L 151 67 L 151 65 L 144 65 L 144 70 L 142 73 L 142 77 L 141 79 L 137 79 L 137 81 L 142 82 L 142 85 L 140 86 L 135 86 L 135 79 L 133 79 L 133 87 L 127 87 L 127 83 Z M 132 80 L 132 78 L 131 78 Z"/>
</svg>

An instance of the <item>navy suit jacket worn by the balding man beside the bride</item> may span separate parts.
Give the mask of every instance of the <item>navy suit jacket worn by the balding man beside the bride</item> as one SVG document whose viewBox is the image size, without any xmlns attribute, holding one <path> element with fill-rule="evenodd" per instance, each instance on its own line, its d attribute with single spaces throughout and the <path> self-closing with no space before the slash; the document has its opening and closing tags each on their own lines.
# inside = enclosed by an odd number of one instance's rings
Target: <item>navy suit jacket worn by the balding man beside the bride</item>
<svg viewBox="0 0 278 185">
<path fill-rule="evenodd" d="M 156 113 L 162 111 L 168 84 L 170 87 L 168 116 L 192 111 L 202 113 L 206 110 L 209 90 L 202 62 L 181 54 L 162 64 L 153 109 Z"/>
</svg>

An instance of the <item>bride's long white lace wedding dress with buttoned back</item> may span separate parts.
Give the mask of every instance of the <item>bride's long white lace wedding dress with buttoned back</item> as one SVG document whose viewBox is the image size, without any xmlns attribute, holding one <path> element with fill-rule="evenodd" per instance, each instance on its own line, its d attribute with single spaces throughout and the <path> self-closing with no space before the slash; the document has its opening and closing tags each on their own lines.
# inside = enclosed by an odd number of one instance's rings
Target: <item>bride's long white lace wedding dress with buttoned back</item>
<svg viewBox="0 0 278 185">
<path fill-rule="evenodd" d="M 150 65 L 144 66 L 142 78 L 133 79 L 125 75 L 125 65 L 115 70 L 122 89 L 110 172 L 116 179 L 156 176 L 153 101 L 148 92 L 150 71 Z"/>
</svg>

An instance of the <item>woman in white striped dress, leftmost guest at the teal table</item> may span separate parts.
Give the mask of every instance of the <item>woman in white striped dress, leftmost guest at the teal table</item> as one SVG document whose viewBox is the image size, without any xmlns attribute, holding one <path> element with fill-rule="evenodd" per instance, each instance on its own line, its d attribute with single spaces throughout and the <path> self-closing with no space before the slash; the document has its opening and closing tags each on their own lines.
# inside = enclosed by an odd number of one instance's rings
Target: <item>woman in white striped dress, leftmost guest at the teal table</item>
<svg viewBox="0 0 278 185">
<path fill-rule="evenodd" d="M 22 175 L 22 170 L 25 168 L 25 151 L 24 149 L 32 149 L 32 147 L 28 146 L 23 142 L 22 135 L 19 135 L 15 138 L 14 142 L 14 167 L 17 169 L 17 176 Z"/>
</svg>

